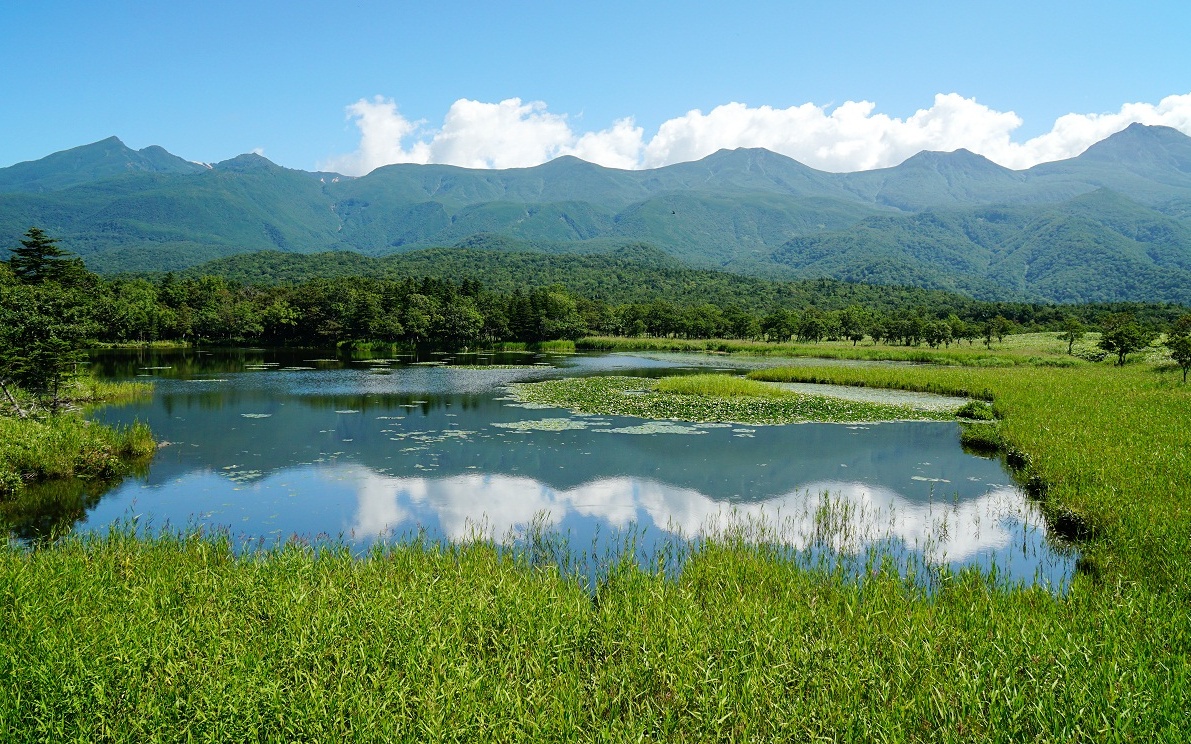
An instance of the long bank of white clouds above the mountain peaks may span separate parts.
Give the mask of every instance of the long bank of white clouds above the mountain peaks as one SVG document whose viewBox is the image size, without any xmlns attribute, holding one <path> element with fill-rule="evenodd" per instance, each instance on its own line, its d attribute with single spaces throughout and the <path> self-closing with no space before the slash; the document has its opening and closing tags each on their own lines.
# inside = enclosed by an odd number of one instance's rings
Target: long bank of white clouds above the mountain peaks
<svg viewBox="0 0 1191 744">
<path fill-rule="evenodd" d="M 871 101 L 790 108 L 725 104 L 665 121 L 647 139 L 632 118 L 600 131 L 576 132 L 567 117 L 542 101 L 455 101 L 438 129 L 410 121 L 397 104 L 374 98 L 348 107 L 360 130 L 355 152 L 320 168 L 361 175 L 389 163 L 449 163 L 467 168 L 523 168 L 574 155 L 611 168 L 656 168 L 706 157 L 719 149 L 766 148 L 831 171 L 896 165 L 921 150 L 966 148 L 1009 168 L 1074 157 L 1133 123 L 1161 124 L 1191 135 L 1191 94 L 1159 104 L 1125 104 L 1112 113 L 1072 113 L 1050 131 L 1015 142 L 1016 113 L 990 108 L 956 93 L 939 94 L 929 108 L 904 119 Z"/>
</svg>

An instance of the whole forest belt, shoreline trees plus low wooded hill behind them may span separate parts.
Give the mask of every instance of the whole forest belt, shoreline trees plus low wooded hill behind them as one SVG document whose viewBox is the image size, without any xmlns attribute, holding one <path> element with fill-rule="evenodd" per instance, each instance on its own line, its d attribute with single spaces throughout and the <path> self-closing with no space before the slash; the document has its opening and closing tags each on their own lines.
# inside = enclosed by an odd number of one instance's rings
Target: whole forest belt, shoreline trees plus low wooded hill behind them
<svg viewBox="0 0 1191 744">
<path fill-rule="evenodd" d="M 6 335 L 43 333 L 66 346 L 467 346 L 586 335 L 937 346 L 1062 330 L 1072 321 L 1095 326 L 1121 313 L 1156 331 L 1185 312 L 1176 305 L 983 302 L 834 280 L 774 282 L 688 269 L 641 246 L 593 256 L 426 251 L 384 262 L 257 254 L 208 267 L 224 275 L 105 279 L 37 229 L 23 244 L 0 264 Z"/>
</svg>

